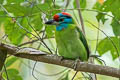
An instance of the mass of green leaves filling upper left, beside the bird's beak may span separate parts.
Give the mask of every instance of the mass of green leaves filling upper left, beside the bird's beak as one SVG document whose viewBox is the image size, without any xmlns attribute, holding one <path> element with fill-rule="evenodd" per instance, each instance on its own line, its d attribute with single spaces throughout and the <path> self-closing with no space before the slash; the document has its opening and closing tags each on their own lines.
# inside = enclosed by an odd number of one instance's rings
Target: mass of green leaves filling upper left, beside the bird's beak
<svg viewBox="0 0 120 80">
<path fill-rule="evenodd" d="M 9 40 L 12 44 L 18 45 L 24 39 L 25 36 L 32 36 L 29 32 L 32 31 L 31 26 L 35 28 L 36 31 L 41 31 L 43 28 L 43 13 L 46 13 L 46 16 L 49 17 L 48 8 L 52 7 L 52 1 L 45 1 L 44 3 L 36 2 L 36 1 L 24 1 L 24 0 L 10 0 L 7 1 L 7 4 L 3 6 L 9 13 L 12 13 L 13 17 L 16 18 L 8 18 L 3 22 L 3 18 L 0 18 L 0 23 L 4 23 L 5 33 L 8 35 Z M 60 7 L 56 5 L 57 9 Z M 53 9 L 55 9 L 53 8 Z M 53 14 L 56 14 L 60 11 L 54 11 Z M 4 11 L 0 11 L 0 15 L 5 15 Z M 28 17 L 26 17 L 28 16 Z M 25 31 L 18 25 L 13 19 L 17 20 L 20 25 L 27 29 Z M 28 25 L 28 23 L 30 25 Z M 46 27 L 46 33 L 48 37 L 52 37 L 54 35 L 53 28 Z"/>
</svg>

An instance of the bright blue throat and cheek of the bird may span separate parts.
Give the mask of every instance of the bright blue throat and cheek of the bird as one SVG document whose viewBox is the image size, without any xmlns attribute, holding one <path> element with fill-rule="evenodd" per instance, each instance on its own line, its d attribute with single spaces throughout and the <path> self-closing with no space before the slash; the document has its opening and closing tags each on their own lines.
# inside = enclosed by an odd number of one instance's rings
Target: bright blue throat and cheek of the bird
<svg viewBox="0 0 120 80">
<path fill-rule="evenodd" d="M 56 26 L 56 31 L 61 31 L 68 28 L 68 25 L 72 23 L 72 19 L 64 19 L 64 22 L 61 22 L 58 26 Z"/>
</svg>

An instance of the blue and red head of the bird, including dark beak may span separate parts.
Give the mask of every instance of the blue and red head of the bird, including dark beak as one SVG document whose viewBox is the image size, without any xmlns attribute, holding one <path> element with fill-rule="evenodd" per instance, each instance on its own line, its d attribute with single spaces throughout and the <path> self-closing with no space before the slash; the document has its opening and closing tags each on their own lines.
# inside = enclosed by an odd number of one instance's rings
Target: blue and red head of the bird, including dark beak
<svg viewBox="0 0 120 80">
<path fill-rule="evenodd" d="M 69 24 L 73 24 L 72 16 L 69 13 L 62 12 L 55 14 L 53 19 L 45 22 L 48 25 L 56 25 L 56 30 L 61 31 L 69 26 Z"/>
</svg>

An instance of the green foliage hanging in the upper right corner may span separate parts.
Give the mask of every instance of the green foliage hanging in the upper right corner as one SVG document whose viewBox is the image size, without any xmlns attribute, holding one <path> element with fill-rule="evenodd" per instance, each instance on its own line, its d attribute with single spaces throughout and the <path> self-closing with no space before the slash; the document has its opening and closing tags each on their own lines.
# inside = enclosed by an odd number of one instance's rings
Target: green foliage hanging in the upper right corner
<svg viewBox="0 0 120 80">
<path fill-rule="evenodd" d="M 96 3 L 94 6 L 94 9 L 97 9 L 101 12 L 111 12 L 112 15 L 114 16 L 112 19 L 111 26 L 113 28 L 113 32 L 116 36 L 120 36 L 120 29 L 118 27 L 120 26 L 119 20 L 120 20 L 120 0 L 106 0 L 103 4 Z M 105 23 L 107 20 L 105 18 L 105 14 L 103 13 L 98 13 L 96 16 L 98 21 L 102 21 Z"/>
</svg>

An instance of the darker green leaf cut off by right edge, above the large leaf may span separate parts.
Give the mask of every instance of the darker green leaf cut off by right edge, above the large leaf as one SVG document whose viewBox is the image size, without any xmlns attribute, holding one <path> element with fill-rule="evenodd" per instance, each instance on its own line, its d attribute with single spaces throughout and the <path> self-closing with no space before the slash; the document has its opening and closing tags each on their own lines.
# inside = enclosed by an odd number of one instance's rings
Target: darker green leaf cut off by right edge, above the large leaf
<svg viewBox="0 0 120 80">
<path fill-rule="evenodd" d="M 120 23 L 118 21 L 116 21 L 115 19 L 112 19 L 112 29 L 113 32 L 116 36 L 120 36 Z"/>
</svg>

